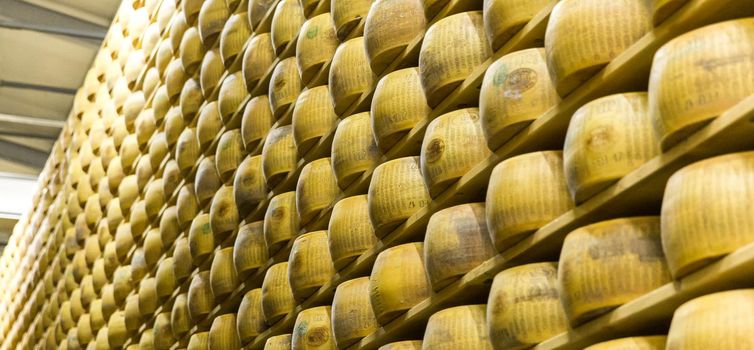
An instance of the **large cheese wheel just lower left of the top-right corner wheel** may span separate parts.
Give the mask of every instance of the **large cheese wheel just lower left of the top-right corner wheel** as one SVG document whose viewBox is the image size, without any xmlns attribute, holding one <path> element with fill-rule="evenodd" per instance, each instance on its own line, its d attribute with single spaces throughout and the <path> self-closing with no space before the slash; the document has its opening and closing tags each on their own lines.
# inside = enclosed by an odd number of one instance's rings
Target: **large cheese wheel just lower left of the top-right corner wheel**
<svg viewBox="0 0 754 350">
<path fill-rule="evenodd" d="M 584 202 L 660 153 L 647 94 L 617 94 L 589 102 L 571 118 L 563 146 L 568 188 Z"/>
</svg>

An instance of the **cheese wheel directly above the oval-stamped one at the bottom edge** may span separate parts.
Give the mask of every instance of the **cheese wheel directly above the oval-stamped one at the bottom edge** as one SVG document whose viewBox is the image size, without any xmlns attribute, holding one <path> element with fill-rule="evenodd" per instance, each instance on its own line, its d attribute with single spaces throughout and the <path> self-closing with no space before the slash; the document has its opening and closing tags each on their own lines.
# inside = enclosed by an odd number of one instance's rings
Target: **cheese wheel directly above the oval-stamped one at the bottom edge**
<svg viewBox="0 0 754 350">
<path fill-rule="evenodd" d="M 288 281 L 297 302 L 330 282 L 335 275 L 327 231 L 315 231 L 296 238 L 288 258 Z"/>
</svg>

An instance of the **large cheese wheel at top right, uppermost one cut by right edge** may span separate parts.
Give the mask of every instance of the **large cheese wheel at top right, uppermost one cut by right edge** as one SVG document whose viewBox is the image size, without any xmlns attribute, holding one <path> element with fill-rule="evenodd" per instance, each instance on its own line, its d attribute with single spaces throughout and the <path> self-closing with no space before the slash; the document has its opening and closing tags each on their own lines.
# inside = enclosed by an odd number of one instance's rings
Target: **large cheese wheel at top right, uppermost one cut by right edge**
<svg viewBox="0 0 754 350">
<path fill-rule="evenodd" d="M 649 110 L 663 150 L 754 93 L 752 38 L 754 19 L 748 18 L 694 30 L 657 51 L 649 78 Z M 729 63 L 720 69 L 709 62 Z"/>
</svg>

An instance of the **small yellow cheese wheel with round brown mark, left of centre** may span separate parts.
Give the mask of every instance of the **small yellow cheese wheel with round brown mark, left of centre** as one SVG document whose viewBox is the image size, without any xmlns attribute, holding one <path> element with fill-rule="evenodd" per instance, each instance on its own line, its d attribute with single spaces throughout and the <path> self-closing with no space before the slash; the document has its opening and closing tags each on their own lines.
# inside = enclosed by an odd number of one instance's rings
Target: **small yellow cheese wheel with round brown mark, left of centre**
<svg viewBox="0 0 754 350">
<path fill-rule="evenodd" d="M 264 215 L 264 240 L 270 255 L 277 253 L 298 235 L 299 217 L 296 192 L 281 193 L 270 199 Z"/>
</svg>

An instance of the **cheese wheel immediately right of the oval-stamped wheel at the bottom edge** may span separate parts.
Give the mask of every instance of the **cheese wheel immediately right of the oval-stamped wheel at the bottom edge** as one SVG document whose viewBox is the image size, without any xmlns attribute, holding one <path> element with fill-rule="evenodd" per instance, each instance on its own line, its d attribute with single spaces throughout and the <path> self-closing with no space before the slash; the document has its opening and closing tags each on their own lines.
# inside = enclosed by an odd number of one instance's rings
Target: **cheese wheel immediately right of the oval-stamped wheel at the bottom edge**
<svg viewBox="0 0 754 350">
<path fill-rule="evenodd" d="M 338 348 L 352 345 L 379 327 L 369 299 L 369 277 L 341 283 L 332 303 L 332 328 Z"/>
</svg>

